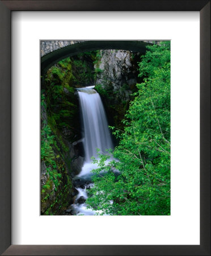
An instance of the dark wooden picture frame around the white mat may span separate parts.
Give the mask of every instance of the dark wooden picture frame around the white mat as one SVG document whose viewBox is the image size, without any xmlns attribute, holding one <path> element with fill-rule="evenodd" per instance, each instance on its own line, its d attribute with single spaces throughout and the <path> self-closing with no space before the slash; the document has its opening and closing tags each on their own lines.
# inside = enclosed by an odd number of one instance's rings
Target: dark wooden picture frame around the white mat
<svg viewBox="0 0 211 256">
<path fill-rule="evenodd" d="M 200 245 L 11 245 L 11 11 L 200 11 Z M 1 0 L 0 35 L 0 253 L 210 255 L 210 0 Z"/>
</svg>

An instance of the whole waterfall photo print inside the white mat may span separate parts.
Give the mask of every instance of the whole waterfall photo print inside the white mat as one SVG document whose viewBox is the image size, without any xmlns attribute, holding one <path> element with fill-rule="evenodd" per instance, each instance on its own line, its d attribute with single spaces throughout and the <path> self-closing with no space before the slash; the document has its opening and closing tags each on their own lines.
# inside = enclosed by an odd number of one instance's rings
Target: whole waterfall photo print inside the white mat
<svg viewBox="0 0 211 256">
<path fill-rule="evenodd" d="M 40 48 L 40 214 L 170 215 L 170 41 Z"/>
</svg>

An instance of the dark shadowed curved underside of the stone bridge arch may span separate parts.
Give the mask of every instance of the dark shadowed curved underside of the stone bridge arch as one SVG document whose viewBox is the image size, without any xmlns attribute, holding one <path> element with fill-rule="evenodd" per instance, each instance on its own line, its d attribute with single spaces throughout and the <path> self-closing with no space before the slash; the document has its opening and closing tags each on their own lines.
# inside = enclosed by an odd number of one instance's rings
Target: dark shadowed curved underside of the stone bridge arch
<svg viewBox="0 0 211 256">
<path fill-rule="evenodd" d="M 50 52 L 41 57 L 41 76 L 44 76 L 45 72 L 47 72 L 53 64 L 65 59 L 66 57 L 77 55 L 81 52 L 95 51 L 97 49 L 123 49 L 144 54 L 146 52 L 147 45 L 149 45 L 149 43 L 130 40 L 92 40 L 71 44 L 70 46 L 57 49 L 56 51 Z"/>
</svg>

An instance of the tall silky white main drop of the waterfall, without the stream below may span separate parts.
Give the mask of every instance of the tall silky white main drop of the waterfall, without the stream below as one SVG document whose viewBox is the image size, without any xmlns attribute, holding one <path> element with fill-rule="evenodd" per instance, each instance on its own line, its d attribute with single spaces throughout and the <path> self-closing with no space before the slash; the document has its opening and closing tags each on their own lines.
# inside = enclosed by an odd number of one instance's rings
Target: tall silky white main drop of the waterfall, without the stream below
<svg viewBox="0 0 211 256">
<path fill-rule="evenodd" d="M 87 163 L 91 162 L 92 156 L 97 158 L 96 148 L 102 152 L 113 148 L 103 103 L 99 93 L 93 88 L 94 86 L 89 86 L 78 89 L 84 134 L 83 146 Z"/>
</svg>

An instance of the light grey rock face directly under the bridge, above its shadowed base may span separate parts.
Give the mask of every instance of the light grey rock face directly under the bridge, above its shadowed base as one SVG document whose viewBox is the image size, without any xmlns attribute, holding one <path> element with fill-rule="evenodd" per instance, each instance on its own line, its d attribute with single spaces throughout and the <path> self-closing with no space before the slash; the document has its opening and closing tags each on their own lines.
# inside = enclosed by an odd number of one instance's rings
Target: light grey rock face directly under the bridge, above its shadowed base
<svg viewBox="0 0 211 256">
<path fill-rule="evenodd" d="M 121 100 L 128 101 L 134 85 L 137 83 L 136 65 L 133 61 L 135 53 L 124 50 L 102 50 L 99 63 L 95 64 L 96 84 L 103 88 L 112 87 L 113 92 Z M 137 54 L 137 53 L 136 53 Z"/>
</svg>

